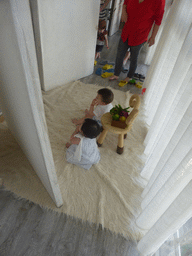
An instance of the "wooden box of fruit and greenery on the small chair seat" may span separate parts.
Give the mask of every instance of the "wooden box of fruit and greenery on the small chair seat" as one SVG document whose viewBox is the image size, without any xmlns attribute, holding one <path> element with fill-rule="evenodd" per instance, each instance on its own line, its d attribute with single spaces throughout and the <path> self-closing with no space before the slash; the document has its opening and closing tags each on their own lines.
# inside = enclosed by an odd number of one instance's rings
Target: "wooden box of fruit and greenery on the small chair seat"
<svg viewBox="0 0 192 256">
<path fill-rule="evenodd" d="M 128 108 L 122 108 L 120 104 L 115 105 L 110 110 L 110 114 L 112 115 L 112 122 L 111 125 L 119 128 L 125 129 L 126 125 L 126 119 L 129 116 L 129 109 Z"/>
</svg>

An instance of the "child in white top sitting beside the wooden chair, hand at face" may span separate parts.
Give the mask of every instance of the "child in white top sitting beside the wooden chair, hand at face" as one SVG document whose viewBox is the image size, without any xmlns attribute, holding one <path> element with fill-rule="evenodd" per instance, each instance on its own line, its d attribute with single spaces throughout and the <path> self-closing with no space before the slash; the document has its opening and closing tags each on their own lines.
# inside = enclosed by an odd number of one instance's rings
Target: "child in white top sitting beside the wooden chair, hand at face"
<svg viewBox="0 0 192 256">
<path fill-rule="evenodd" d="M 92 118 L 96 120 L 100 126 L 101 117 L 103 114 L 110 112 L 113 108 L 111 102 L 113 101 L 114 95 L 110 89 L 103 88 L 98 90 L 97 97 L 93 99 L 89 110 L 85 110 L 85 116 L 81 119 L 72 119 L 72 122 L 76 125 L 82 124 L 85 118 Z"/>
</svg>

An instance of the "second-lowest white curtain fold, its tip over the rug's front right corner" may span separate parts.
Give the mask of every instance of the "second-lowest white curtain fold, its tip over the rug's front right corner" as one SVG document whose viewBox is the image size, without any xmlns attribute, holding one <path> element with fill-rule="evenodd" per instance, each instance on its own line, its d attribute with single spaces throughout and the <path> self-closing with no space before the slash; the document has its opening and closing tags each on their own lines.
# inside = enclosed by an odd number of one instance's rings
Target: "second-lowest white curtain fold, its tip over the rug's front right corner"
<svg viewBox="0 0 192 256">
<path fill-rule="evenodd" d="M 168 169 L 170 172 L 172 171 L 170 166 L 168 166 Z M 137 218 L 137 225 L 141 229 L 150 229 L 191 181 L 192 149 L 187 152 L 172 175 L 167 175 L 169 177 L 166 177 L 166 171 L 166 168 L 165 171 L 162 170 L 162 175 L 159 176 L 159 179 L 154 183 L 154 187 L 149 191 L 148 200 L 146 199 L 143 203 L 143 207 L 146 207 Z"/>
</svg>

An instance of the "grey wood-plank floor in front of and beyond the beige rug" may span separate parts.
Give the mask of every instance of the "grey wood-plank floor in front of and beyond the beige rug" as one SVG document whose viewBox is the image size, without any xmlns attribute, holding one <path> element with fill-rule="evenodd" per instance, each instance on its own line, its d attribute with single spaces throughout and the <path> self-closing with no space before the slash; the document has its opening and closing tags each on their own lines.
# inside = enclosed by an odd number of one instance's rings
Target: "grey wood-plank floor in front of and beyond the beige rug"
<svg viewBox="0 0 192 256">
<path fill-rule="evenodd" d="M 99 61 L 115 61 L 119 33 L 109 38 Z M 142 56 L 142 53 L 141 53 Z M 144 56 L 144 54 L 143 54 Z M 142 57 L 140 57 L 140 60 Z M 126 67 L 128 67 L 129 62 Z M 139 62 L 137 72 L 146 75 L 148 67 Z M 126 74 L 120 76 L 124 78 Z M 111 86 L 122 91 L 141 93 L 135 86 L 119 87 L 93 73 L 82 78 L 84 83 Z M 1 180 L 0 180 L 1 183 Z M 40 208 L 25 199 L 18 199 L 0 184 L 0 256 L 139 256 L 134 241 L 112 234 L 109 230 Z"/>
</svg>

